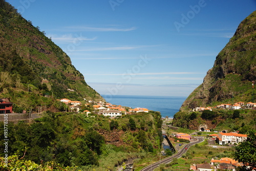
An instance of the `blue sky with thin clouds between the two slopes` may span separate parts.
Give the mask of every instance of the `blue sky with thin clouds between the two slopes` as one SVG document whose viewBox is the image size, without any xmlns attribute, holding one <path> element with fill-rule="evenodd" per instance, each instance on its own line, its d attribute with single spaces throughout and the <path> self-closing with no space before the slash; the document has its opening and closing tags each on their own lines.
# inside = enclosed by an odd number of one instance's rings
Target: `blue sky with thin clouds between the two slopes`
<svg viewBox="0 0 256 171">
<path fill-rule="evenodd" d="M 100 94 L 188 96 L 255 0 L 8 0 Z"/>
</svg>

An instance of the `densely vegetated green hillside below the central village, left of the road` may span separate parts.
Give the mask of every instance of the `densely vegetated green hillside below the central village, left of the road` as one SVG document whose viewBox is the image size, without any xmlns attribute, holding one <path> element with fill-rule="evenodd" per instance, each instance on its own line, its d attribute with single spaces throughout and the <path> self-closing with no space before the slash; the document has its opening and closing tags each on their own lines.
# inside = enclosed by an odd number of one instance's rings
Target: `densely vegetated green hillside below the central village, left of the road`
<svg viewBox="0 0 256 171">
<path fill-rule="evenodd" d="M 52 161 L 83 169 L 113 169 L 124 159 L 157 153 L 163 140 L 161 124 L 159 112 L 127 115 L 114 120 L 104 116 L 48 112 L 33 124 L 9 123 L 8 155 L 25 154 L 25 160 L 37 164 Z M 4 137 L 3 129 L 3 123 L 0 123 L 1 137 Z M 3 139 L 0 149 L 3 156 Z"/>
</svg>

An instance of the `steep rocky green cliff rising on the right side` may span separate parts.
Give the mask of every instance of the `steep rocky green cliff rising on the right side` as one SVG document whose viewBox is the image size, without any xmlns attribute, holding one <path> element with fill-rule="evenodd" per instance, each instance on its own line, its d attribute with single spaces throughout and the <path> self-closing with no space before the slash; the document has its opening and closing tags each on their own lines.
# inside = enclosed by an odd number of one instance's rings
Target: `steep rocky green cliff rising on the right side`
<svg viewBox="0 0 256 171">
<path fill-rule="evenodd" d="M 256 78 L 256 11 L 246 17 L 216 57 L 203 83 L 182 104 L 181 110 L 215 102 L 251 101 Z M 255 98 L 254 98 L 255 99 Z"/>
</svg>

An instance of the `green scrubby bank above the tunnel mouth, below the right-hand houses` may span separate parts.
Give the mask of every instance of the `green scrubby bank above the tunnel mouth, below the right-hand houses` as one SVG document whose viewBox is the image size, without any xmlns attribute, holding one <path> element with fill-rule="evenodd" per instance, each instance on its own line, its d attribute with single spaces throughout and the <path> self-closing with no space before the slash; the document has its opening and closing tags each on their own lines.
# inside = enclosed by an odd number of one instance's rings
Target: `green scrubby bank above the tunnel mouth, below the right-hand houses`
<svg viewBox="0 0 256 171">
<path fill-rule="evenodd" d="M 211 131 L 239 131 L 245 134 L 256 130 L 256 111 L 243 110 L 204 110 L 203 112 L 180 111 L 174 115 L 173 126 L 198 130 L 207 125 Z"/>
</svg>

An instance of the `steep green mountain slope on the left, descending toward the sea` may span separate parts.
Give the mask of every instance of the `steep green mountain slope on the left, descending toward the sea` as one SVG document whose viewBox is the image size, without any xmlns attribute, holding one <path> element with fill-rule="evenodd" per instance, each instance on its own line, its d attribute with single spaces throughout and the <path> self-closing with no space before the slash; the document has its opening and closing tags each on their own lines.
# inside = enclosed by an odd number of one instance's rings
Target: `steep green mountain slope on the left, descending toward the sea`
<svg viewBox="0 0 256 171">
<path fill-rule="evenodd" d="M 48 104 L 45 95 L 104 101 L 67 54 L 4 0 L 0 0 L 0 75 L 0 96 L 18 106 Z"/>
</svg>

